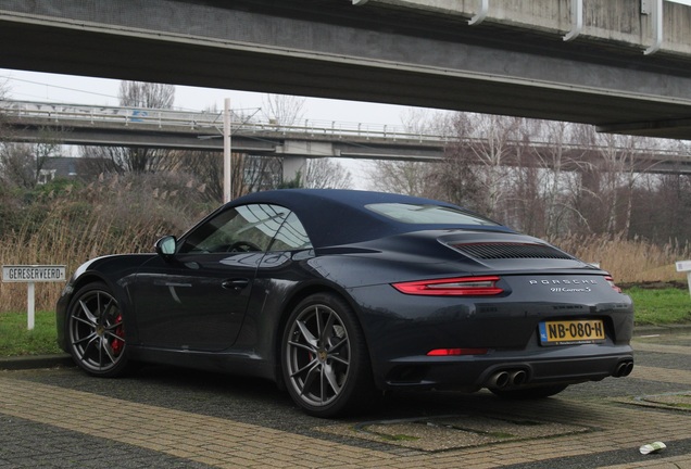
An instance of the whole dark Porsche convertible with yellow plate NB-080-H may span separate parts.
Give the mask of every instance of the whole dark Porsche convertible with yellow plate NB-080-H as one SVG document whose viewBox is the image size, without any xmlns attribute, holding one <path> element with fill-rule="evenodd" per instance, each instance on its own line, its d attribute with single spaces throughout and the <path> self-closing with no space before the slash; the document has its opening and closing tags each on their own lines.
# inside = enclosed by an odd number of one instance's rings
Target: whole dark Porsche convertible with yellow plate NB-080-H
<svg viewBox="0 0 691 469">
<path fill-rule="evenodd" d="M 633 367 L 633 307 L 606 271 L 444 202 L 259 192 L 155 251 L 67 282 L 58 340 L 87 372 L 251 375 L 335 417 L 387 390 L 545 397 Z"/>
</svg>

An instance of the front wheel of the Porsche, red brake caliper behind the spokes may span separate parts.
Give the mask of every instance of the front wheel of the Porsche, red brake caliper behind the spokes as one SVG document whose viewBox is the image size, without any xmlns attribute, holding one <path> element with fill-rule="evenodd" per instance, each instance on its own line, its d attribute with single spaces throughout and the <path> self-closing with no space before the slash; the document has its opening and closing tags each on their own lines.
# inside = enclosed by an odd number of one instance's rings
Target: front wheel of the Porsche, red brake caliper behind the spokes
<svg viewBox="0 0 691 469">
<path fill-rule="evenodd" d="M 73 360 L 89 375 L 112 378 L 129 368 L 123 314 L 104 283 L 77 291 L 67 308 L 65 338 Z"/>
</svg>

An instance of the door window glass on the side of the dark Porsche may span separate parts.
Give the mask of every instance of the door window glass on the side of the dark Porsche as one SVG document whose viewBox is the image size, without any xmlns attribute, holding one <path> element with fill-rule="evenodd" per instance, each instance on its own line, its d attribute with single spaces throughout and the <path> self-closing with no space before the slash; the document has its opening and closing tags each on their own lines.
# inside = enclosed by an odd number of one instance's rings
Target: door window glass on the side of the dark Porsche
<svg viewBox="0 0 691 469">
<path fill-rule="evenodd" d="M 192 231 L 180 253 L 266 251 L 290 212 L 278 205 L 241 205 L 219 213 Z"/>
</svg>

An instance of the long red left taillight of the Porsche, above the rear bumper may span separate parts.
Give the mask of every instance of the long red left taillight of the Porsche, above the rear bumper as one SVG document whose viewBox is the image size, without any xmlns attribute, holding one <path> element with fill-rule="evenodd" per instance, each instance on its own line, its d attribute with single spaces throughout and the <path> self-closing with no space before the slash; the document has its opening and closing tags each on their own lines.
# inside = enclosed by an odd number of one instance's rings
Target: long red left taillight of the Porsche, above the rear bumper
<svg viewBox="0 0 691 469">
<path fill-rule="evenodd" d="M 492 296 L 504 291 L 497 287 L 498 281 L 497 276 L 457 277 L 392 283 L 392 287 L 401 293 L 416 295 Z"/>
</svg>

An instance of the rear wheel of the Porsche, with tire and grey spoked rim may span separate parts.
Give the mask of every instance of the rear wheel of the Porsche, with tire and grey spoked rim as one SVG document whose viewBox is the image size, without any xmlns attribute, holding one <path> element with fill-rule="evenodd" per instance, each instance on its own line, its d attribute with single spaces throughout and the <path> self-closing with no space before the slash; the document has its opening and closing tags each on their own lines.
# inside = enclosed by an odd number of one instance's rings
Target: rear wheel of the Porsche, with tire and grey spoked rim
<svg viewBox="0 0 691 469">
<path fill-rule="evenodd" d="M 306 414 L 341 417 L 373 402 L 365 338 L 350 306 L 329 293 L 307 296 L 292 312 L 281 341 L 284 381 Z"/>
</svg>

